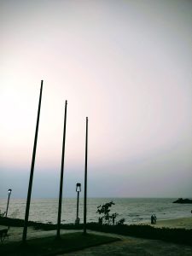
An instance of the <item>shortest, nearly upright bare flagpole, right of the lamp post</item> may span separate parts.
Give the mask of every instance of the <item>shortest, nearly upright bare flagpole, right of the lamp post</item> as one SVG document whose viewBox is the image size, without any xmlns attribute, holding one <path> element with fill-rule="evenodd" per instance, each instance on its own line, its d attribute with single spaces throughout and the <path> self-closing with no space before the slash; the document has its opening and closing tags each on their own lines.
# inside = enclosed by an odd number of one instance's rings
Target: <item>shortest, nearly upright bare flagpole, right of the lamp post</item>
<svg viewBox="0 0 192 256">
<path fill-rule="evenodd" d="M 88 117 L 86 118 L 85 165 L 84 165 L 84 235 L 87 233 L 87 149 L 88 149 Z"/>
</svg>

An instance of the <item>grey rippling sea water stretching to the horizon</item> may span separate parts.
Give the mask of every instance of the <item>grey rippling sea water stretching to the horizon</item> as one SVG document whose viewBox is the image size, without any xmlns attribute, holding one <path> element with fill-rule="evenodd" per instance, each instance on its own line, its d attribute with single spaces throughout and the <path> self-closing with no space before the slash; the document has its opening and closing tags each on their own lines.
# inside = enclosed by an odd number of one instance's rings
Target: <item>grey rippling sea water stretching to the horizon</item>
<svg viewBox="0 0 192 256">
<path fill-rule="evenodd" d="M 151 214 L 157 219 L 191 217 L 192 205 L 173 204 L 176 198 L 89 198 L 87 200 L 87 222 L 98 221 L 97 207 L 108 201 L 113 201 L 111 212 L 119 213 L 116 220 L 125 218 L 126 224 L 146 223 Z M 5 212 L 7 200 L 0 199 L 0 210 Z M 33 221 L 55 224 L 57 222 L 58 199 L 32 199 L 29 219 Z M 84 201 L 79 199 L 80 223 L 84 219 Z M 12 199 L 9 201 L 8 217 L 25 218 L 26 199 Z M 61 223 L 74 223 L 77 211 L 77 199 L 63 198 Z"/>
</svg>

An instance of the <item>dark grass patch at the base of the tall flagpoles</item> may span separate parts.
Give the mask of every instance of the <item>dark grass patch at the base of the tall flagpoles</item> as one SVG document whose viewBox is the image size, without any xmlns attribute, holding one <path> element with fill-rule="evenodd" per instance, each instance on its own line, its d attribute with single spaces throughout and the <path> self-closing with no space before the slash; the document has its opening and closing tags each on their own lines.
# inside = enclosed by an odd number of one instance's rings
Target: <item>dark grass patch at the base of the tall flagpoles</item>
<svg viewBox="0 0 192 256">
<path fill-rule="evenodd" d="M 80 232 L 76 232 L 62 235 L 60 240 L 56 240 L 55 236 L 50 236 L 28 240 L 26 244 L 21 244 L 20 242 L 0 244 L 0 252 L 3 256 L 50 256 L 78 251 L 113 241 L 119 241 L 119 239 L 93 234 L 83 235 Z"/>
</svg>

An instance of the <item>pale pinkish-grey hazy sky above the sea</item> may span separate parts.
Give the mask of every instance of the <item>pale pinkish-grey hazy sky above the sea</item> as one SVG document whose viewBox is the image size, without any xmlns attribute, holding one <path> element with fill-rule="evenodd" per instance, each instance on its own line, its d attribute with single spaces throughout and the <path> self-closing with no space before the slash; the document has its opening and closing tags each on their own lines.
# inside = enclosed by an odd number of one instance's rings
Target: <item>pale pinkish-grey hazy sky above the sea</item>
<svg viewBox="0 0 192 256">
<path fill-rule="evenodd" d="M 192 1 L 0 0 L 0 197 L 192 196 Z M 83 196 L 83 193 L 81 193 Z"/>
</svg>

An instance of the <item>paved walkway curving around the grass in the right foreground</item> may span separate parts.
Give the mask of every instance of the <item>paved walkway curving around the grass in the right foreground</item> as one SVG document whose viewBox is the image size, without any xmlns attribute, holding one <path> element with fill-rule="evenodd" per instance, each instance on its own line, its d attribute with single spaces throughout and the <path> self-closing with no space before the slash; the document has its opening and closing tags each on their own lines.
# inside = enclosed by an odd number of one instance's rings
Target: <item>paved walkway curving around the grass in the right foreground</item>
<svg viewBox="0 0 192 256">
<path fill-rule="evenodd" d="M 105 233 L 89 231 L 98 235 Z M 119 237 L 121 241 L 115 241 L 109 244 L 90 247 L 74 253 L 64 253 L 57 256 L 191 256 L 192 247 L 178 245 L 170 242 L 136 238 L 131 236 L 118 236 L 114 234 L 105 234 L 106 236 Z"/>
</svg>

